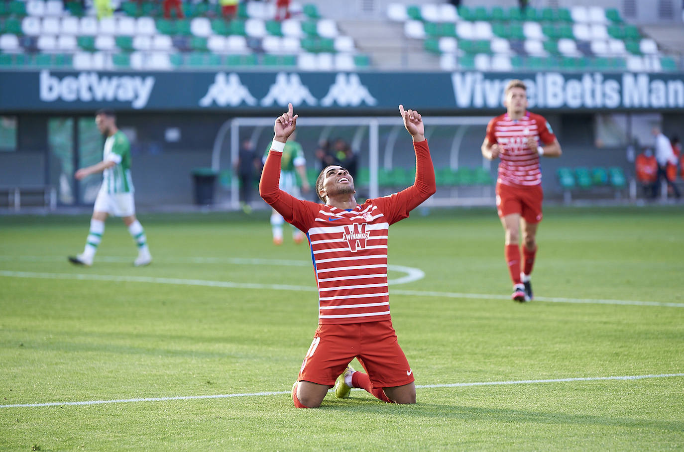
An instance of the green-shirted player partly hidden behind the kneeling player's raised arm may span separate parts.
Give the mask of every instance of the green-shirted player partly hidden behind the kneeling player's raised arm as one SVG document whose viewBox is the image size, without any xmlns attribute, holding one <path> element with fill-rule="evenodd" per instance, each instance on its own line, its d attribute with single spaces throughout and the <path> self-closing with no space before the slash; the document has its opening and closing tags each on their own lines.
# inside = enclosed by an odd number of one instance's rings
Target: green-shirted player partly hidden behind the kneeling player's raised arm
<svg viewBox="0 0 684 452">
<path fill-rule="evenodd" d="M 297 185 L 297 178 L 295 172 L 299 174 L 302 181 L 302 191 L 308 192 L 308 181 L 306 180 L 306 159 L 304 159 L 304 150 L 302 145 L 295 142 L 296 133 L 293 133 L 291 140 L 285 143 L 285 148 L 282 150 L 282 160 L 280 161 L 280 189 L 287 191 L 295 198 L 301 198 L 299 186 Z M 269 148 L 270 149 L 270 148 Z M 268 157 L 268 151 L 263 156 L 265 163 Z M 273 232 L 273 243 L 282 245 L 282 215 L 273 209 L 271 213 L 271 230 Z M 292 239 L 295 243 L 302 243 L 304 235 L 300 230 L 295 229 L 292 232 Z"/>
</svg>

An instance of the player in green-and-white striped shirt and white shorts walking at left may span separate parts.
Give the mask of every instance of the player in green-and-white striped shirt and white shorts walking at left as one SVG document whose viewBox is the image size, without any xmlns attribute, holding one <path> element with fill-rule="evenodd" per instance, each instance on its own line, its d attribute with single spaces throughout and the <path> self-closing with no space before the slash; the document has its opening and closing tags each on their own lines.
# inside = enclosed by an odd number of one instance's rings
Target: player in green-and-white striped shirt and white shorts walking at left
<svg viewBox="0 0 684 452">
<path fill-rule="evenodd" d="M 105 232 L 105 220 L 109 215 L 123 217 L 131 237 L 138 248 L 137 258 L 133 265 L 148 265 L 152 255 L 147 247 L 147 238 L 142 224 L 135 218 L 135 201 L 133 200 L 133 180 L 131 178 L 131 144 L 122 131 L 116 127 L 114 111 L 99 110 L 95 114 L 95 124 L 107 138 L 105 150 L 100 163 L 81 168 L 75 174 L 80 181 L 90 174 L 103 174 L 102 186 L 95 198 L 90 232 L 86 239 L 86 248 L 81 254 L 69 256 L 69 261 L 77 265 L 92 265 L 92 261 Z"/>
</svg>

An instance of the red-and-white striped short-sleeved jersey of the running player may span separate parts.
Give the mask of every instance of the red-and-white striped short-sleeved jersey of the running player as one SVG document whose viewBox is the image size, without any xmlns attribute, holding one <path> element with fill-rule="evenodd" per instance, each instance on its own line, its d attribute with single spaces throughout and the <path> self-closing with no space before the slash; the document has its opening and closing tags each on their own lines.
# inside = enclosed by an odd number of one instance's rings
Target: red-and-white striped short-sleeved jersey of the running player
<svg viewBox="0 0 684 452">
<path fill-rule="evenodd" d="M 501 146 L 497 183 L 505 185 L 539 185 L 542 172 L 539 155 L 527 146 L 527 138 L 551 144 L 555 139 L 549 122 L 543 116 L 525 112 L 525 116 L 512 120 L 508 114 L 492 119 L 487 126 L 490 144 Z"/>
</svg>

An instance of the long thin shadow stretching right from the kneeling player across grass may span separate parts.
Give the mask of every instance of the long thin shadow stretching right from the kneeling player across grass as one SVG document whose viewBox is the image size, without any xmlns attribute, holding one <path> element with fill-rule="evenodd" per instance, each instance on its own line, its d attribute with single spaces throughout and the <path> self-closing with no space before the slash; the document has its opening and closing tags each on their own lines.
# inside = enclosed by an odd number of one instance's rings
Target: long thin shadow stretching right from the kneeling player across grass
<svg viewBox="0 0 684 452">
<path fill-rule="evenodd" d="M 354 396 L 348 399 L 335 399 L 328 395 L 321 408 L 324 410 L 354 410 L 375 414 L 412 416 L 415 418 L 440 418 L 454 422 L 472 423 L 495 421 L 497 423 L 531 423 L 546 425 L 602 425 L 605 427 L 648 428 L 663 431 L 684 431 L 682 421 L 659 421 L 622 416 L 596 416 L 592 414 L 570 414 L 553 411 L 506 410 L 503 408 L 481 408 L 473 406 L 444 405 L 438 403 L 415 403 L 414 405 L 393 405 L 382 403 L 371 396 Z"/>
</svg>

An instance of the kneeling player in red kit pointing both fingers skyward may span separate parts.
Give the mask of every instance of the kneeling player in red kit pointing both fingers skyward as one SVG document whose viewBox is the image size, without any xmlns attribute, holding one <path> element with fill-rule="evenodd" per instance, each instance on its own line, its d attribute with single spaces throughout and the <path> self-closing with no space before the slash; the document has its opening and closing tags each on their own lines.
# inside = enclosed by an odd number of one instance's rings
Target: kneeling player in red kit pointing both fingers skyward
<svg viewBox="0 0 684 452">
<path fill-rule="evenodd" d="M 415 183 L 399 193 L 356 204 L 354 178 L 340 165 L 324 168 L 316 193 L 325 204 L 300 200 L 278 188 L 280 157 L 298 115 L 276 119 L 259 192 L 285 221 L 306 233 L 319 291 L 318 328 L 292 386 L 298 408 L 320 406 L 328 389 L 348 397 L 363 388 L 378 399 L 415 403 L 413 371 L 392 326 L 387 288 L 389 225 L 430 198 L 436 190 L 430 149 L 417 111 L 399 105 L 416 152 Z M 354 359 L 366 373 L 348 366 Z M 337 382 L 336 382 L 337 379 Z"/>
</svg>

